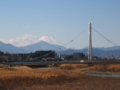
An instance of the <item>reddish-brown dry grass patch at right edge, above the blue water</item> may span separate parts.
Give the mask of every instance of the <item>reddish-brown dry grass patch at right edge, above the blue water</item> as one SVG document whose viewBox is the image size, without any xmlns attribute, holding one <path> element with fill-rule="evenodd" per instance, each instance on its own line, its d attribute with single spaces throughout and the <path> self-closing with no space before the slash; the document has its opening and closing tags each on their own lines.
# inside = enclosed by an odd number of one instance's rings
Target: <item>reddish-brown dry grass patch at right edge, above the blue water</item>
<svg viewBox="0 0 120 90">
<path fill-rule="evenodd" d="M 113 65 L 94 65 L 89 67 L 89 71 L 110 71 L 110 72 L 120 72 L 120 64 Z"/>
</svg>

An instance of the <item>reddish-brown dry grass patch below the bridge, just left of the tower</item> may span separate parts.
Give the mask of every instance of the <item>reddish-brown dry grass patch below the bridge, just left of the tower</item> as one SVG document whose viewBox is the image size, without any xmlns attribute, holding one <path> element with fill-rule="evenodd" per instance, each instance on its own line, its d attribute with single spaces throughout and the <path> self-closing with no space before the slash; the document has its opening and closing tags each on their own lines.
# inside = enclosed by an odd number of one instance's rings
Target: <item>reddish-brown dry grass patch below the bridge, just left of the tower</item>
<svg viewBox="0 0 120 90">
<path fill-rule="evenodd" d="M 66 69 L 66 70 L 73 70 L 78 68 L 85 68 L 88 67 L 87 64 L 62 64 L 60 65 L 60 69 Z"/>
</svg>

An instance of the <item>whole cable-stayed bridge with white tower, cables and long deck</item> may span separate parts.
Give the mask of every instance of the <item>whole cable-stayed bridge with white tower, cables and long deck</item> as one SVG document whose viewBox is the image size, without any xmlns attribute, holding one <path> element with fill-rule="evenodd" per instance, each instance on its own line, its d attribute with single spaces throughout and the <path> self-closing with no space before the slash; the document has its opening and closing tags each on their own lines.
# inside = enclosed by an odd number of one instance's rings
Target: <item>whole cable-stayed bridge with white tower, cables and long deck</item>
<svg viewBox="0 0 120 90">
<path fill-rule="evenodd" d="M 30 65 L 35 65 L 35 64 L 37 64 L 37 65 L 38 64 L 39 65 L 49 65 L 49 64 L 79 64 L 79 63 L 83 63 L 83 64 L 98 64 L 98 63 L 103 63 L 103 62 L 105 62 L 104 60 L 92 60 L 93 59 L 93 57 L 92 57 L 92 29 L 95 32 L 97 32 L 100 36 L 102 36 L 104 39 L 106 39 L 108 42 L 110 42 L 111 44 L 113 44 L 115 46 L 118 46 L 120 48 L 119 45 L 113 43 L 112 41 L 110 41 L 109 39 L 107 39 L 105 36 L 103 36 L 102 34 L 100 34 L 97 30 L 95 30 L 94 28 L 92 28 L 91 23 L 89 23 L 88 24 L 88 60 L 69 60 L 69 61 L 68 60 L 65 60 L 65 61 L 34 61 L 33 60 L 31 62 L 6 62 L 5 64 L 9 64 L 9 65 L 29 65 L 29 64 Z M 80 33 L 79 35 L 81 35 L 82 33 Z M 74 39 L 76 39 L 78 36 L 76 36 Z M 63 46 L 66 46 L 67 44 L 69 44 L 73 40 L 67 42 Z M 47 54 L 45 54 L 43 56 L 36 57 L 34 59 L 44 57 L 44 56 L 49 55 L 51 53 L 52 52 L 47 53 Z M 108 61 L 109 60 L 107 60 L 107 62 Z M 118 61 L 118 60 L 112 60 L 109 63 L 120 63 L 120 61 Z"/>
</svg>

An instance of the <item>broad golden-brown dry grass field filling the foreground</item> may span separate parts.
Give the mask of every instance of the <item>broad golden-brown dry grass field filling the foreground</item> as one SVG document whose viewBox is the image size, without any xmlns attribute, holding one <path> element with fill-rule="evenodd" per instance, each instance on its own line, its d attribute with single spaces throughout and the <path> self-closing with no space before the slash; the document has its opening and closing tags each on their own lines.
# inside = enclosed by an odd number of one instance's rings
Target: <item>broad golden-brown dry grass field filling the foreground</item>
<svg viewBox="0 0 120 90">
<path fill-rule="evenodd" d="M 94 70 L 96 65 L 88 68 L 87 65 L 64 64 L 61 67 L 31 69 L 22 66 L 0 69 L 0 90 L 120 90 L 120 78 L 86 76 L 80 72 L 80 68 Z"/>
</svg>

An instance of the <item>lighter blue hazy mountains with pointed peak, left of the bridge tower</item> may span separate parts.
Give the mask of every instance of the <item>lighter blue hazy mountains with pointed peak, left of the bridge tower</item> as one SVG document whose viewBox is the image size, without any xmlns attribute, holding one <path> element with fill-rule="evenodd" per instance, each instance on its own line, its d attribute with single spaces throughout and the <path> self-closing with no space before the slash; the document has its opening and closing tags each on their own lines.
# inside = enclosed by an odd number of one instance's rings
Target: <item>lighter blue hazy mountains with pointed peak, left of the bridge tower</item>
<svg viewBox="0 0 120 90">
<path fill-rule="evenodd" d="M 67 49 L 66 47 L 63 47 L 61 45 L 50 44 L 44 41 L 40 41 L 38 43 L 27 45 L 24 47 L 16 47 L 11 44 L 5 44 L 3 42 L 0 42 L 0 50 L 3 52 L 9 52 L 9 53 L 29 53 L 29 52 L 39 51 L 39 50 L 62 51 L 66 49 Z"/>
</svg>

